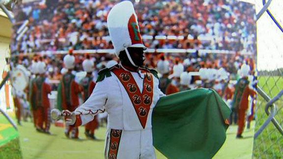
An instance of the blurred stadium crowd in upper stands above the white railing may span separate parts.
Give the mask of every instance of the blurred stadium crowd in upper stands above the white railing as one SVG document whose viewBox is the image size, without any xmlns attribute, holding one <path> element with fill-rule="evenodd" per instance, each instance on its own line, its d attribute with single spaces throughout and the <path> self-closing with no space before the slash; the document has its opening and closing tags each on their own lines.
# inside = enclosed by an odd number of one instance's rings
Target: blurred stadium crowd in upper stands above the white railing
<svg viewBox="0 0 283 159">
<path fill-rule="evenodd" d="M 112 49 L 107 15 L 120 0 L 42 0 L 14 10 L 12 53 Z M 146 47 L 255 53 L 255 8 L 236 0 L 137 0 Z M 17 41 L 16 31 L 28 20 Z M 157 36 L 175 36 L 163 37 Z"/>
</svg>

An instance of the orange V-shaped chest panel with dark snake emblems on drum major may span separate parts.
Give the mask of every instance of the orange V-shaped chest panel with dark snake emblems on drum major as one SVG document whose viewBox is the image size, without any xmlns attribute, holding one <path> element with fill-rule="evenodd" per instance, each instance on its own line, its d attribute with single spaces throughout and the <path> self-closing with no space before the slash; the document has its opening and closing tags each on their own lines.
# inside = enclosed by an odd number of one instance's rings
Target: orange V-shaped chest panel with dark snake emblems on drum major
<svg viewBox="0 0 283 159">
<path fill-rule="evenodd" d="M 142 128 L 144 129 L 150 106 L 153 101 L 153 76 L 150 73 L 144 75 L 142 83 L 143 88 L 141 92 L 138 84 L 130 72 L 122 68 L 113 69 L 112 71 L 120 80 L 126 92 L 128 93 Z"/>
</svg>

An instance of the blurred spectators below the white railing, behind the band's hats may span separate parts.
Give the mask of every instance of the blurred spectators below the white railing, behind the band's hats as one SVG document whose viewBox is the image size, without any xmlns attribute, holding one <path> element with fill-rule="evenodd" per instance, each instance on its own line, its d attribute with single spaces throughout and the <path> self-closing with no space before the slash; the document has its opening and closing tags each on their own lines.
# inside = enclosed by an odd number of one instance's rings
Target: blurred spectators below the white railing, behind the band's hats
<svg viewBox="0 0 283 159">
<path fill-rule="evenodd" d="M 93 73 L 96 77 L 97 72 L 107 66 L 107 62 L 114 60 L 118 61 L 118 58 L 114 54 L 110 53 L 93 53 L 88 54 L 94 63 L 95 71 Z M 85 54 L 75 54 L 76 66 L 75 71 L 83 71 L 82 62 L 85 59 Z M 61 70 L 63 69 L 63 54 L 56 55 L 24 55 L 14 56 L 12 58 L 11 67 L 16 67 L 18 64 L 22 64 L 28 70 L 31 67 L 32 60 L 41 57 L 42 60 L 47 64 L 47 76 L 50 79 L 60 79 Z M 255 60 L 254 56 L 246 56 L 240 54 L 212 54 L 206 53 L 199 55 L 198 53 L 145 53 L 145 65 L 148 68 L 158 70 L 158 62 L 161 59 L 169 61 L 169 72 L 173 74 L 173 66 L 181 63 L 186 72 L 198 72 L 200 68 L 212 68 L 220 69 L 224 68 L 230 75 L 230 79 L 237 79 L 237 71 L 240 69 L 243 63 L 249 64 L 251 68 L 251 74 L 255 74 Z M 159 71 L 159 70 L 158 70 Z"/>
</svg>

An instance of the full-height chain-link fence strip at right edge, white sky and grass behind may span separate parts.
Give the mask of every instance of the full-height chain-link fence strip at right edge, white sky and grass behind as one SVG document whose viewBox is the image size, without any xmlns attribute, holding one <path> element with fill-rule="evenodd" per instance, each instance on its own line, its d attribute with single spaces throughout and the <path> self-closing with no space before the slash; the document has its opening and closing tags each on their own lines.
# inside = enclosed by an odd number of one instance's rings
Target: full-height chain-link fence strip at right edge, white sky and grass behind
<svg viewBox="0 0 283 159">
<path fill-rule="evenodd" d="M 264 12 L 257 21 L 255 159 L 283 159 L 283 32 L 279 28 L 283 21 L 276 17 L 278 7 L 283 7 L 283 2 L 273 0 L 268 7 L 271 14 Z"/>
</svg>

